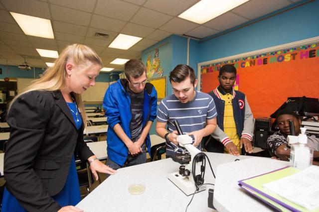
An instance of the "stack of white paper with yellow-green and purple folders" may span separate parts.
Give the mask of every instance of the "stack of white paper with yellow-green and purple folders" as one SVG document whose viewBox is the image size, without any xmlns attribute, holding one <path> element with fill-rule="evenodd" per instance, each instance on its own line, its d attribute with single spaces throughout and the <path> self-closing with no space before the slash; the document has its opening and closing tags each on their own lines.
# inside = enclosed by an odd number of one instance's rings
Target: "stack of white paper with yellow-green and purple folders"
<svg viewBox="0 0 319 212">
<path fill-rule="evenodd" d="M 278 211 L 319 212 L 319 166 L 285 167 L 241 180 L 239 186 Z"/>
</svg>

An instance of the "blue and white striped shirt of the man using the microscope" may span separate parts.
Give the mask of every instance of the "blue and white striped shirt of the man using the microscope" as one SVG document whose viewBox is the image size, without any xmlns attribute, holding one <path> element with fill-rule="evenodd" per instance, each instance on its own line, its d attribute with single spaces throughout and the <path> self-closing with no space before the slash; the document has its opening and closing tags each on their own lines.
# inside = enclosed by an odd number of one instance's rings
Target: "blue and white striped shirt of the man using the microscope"
<svg viewBox="0 0 319 212">
<path fill-rule="evenodd" d="M 217 116 L 213 98 L 202 92 L 197 92 L 195 98 L 188 103 L 181 103 L 173 94 L 163 99 L 158 107 L 157 119 L 167 123 L 167 129 L 172 132 L 175 129 L 174 120 L 178 120 L 184 134 L 205 128 L 206 119 Z M 194 139 L 193 139 L 194 142 Z M 197 148 L 202 148 L 202 143 Z M 166 142 L 166 155 L 171 155 L 176 145 Z M 178 148 L 177 152 L 182 150 Z"/>
</svg>

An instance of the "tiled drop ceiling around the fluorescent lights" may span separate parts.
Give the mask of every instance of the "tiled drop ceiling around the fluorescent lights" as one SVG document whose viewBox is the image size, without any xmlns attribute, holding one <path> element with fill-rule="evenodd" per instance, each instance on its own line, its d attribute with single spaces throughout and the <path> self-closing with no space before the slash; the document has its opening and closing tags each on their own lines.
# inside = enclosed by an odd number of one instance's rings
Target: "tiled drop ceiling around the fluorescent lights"
<svg viewBox="0 0 319 212">
<path fill-rule="evenodd" d="M 116 58 L 140 59 L 142 51 L 171 35 L 204 38 L 266 15 L 299 0 L 250 0 L 204 24 L 177 17 L 199 0 L 0 0 L 0 64 L 46 67 L 35 50 L 57 50 L 82 43 L 93 48 L 104 67 L 122 71 L 123 65 L 110 64 Z M 9 11 L 51 20 L 54 39 L 25 35 Z M 95 33 L 109 36 L 96 37 Z M 128 50 L 109 48 L 119 34 L 143 39 Z"/>
</svg>

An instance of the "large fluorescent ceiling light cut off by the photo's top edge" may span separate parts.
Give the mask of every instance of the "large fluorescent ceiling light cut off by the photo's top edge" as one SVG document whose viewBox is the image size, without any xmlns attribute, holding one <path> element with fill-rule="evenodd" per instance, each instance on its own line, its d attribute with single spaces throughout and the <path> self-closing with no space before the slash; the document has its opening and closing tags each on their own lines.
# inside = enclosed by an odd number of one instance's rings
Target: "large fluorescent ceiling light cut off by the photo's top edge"
<svg viewBox="0 0 319 212">
<path fill-rule="evenodd" d="M 248 0 L 201 0 L 178 17 L 202 24 L 246 1 Z"/>
</svg>

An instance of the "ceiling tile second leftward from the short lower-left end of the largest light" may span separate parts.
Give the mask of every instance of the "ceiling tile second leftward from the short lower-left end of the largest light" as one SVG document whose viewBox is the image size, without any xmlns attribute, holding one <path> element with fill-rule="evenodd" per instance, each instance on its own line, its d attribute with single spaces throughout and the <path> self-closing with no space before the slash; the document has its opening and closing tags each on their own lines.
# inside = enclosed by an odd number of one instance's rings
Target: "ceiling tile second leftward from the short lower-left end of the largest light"
<svg viewBox="0 0 319 212">
<path fill-rule="evenodd" d="M 130 22 L 150 26 L 153 28 L 159 28 L 161 25 L 172 19 L 173 16 L 163 14 L 147 8 L 141 8 Z"/>
</svg>

